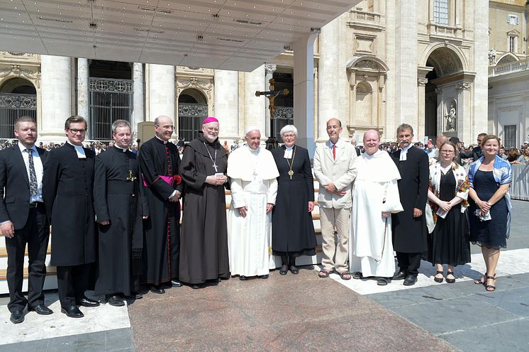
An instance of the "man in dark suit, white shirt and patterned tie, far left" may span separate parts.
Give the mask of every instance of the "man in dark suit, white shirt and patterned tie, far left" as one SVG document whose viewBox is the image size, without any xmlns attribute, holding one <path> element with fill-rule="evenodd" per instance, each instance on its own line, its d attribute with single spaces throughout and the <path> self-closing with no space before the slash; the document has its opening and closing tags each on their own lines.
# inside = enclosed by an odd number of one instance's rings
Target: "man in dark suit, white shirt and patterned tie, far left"
<svg viewBox="0 0 529 352">
<path fill-rule="evenodd" d="M 24 321 L 23 309 L 52 314 L 44 305 L 46 251 L 50 225 L 43 206 L 43 163 L 46 150 L 37 148 L 37 125 L 30 116 L 15 121 L 18 145 L 0 153 L 0 231 L 6 236 L 7 285 L 11 322 Z M 28 299 L 22 294 L 24 252 L 28 244 Z"/>
</svg>

